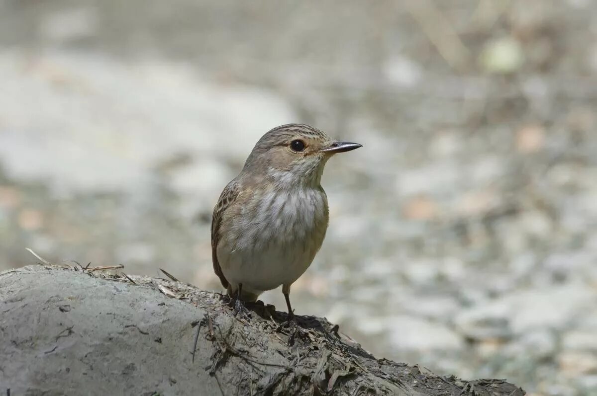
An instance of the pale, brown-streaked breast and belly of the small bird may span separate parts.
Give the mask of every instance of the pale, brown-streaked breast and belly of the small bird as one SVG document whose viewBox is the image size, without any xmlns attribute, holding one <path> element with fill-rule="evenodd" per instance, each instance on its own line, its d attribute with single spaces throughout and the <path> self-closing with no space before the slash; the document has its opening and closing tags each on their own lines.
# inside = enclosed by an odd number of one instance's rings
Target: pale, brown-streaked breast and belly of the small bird
<svg viewBox="0 0 597 396">
<path fill-rule="evenodd" d="M 259 295 L 292 284 L 321 247 L 328 205 L 321 188 L 261 194 L 230 219 L 217 248 L 220 267 L 235 290 Z"/>
</svg>

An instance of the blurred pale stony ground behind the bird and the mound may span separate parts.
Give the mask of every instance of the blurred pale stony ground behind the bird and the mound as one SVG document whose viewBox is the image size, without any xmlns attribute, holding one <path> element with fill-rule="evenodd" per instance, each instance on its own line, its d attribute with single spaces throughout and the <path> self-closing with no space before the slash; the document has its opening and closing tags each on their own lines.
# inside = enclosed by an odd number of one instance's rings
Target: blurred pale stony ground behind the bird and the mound
<svg viewBox="0 0 597 396">
<path fill-rule="evenodd" d="M 0 75 L 0 269 L 29 247 L 220 290 L 220 191 L 309 123 L 364 147 L 327 165 L 297 314 L 597 394 L 597 2 L 0 0 Z"/>
</svg>

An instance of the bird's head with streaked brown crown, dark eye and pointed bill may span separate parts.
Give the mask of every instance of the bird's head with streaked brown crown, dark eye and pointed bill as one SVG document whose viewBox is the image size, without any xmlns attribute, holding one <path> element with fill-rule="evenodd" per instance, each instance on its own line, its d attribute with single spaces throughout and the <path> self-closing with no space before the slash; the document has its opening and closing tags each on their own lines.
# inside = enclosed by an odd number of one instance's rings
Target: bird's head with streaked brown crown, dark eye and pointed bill
<svg viewBox="0 0 597 396">
<path fill-rule="evenodd" d="M 331 156 L 359 147 L 358 143 L 334 141 L 309 125 L 281 125 L 261 137 L 243 172 L 280 184 L 318 186 Z"/>
</svg>

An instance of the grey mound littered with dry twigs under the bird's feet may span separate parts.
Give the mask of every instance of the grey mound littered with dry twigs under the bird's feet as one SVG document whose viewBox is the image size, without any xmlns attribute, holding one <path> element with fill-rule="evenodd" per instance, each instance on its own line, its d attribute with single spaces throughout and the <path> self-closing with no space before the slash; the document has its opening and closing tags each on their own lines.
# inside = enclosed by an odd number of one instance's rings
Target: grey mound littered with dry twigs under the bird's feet
<svg viewBox="0 0 597 396">
<path fill-rule="evenodd" d="M 226 299 L 78 265 L 0 273 L 0 394 L 524 395 L 376 359 L 324 318 L 299 317 L 308 330 L 289 346 L 284 313 L 245 321 Z"/>
</svg>

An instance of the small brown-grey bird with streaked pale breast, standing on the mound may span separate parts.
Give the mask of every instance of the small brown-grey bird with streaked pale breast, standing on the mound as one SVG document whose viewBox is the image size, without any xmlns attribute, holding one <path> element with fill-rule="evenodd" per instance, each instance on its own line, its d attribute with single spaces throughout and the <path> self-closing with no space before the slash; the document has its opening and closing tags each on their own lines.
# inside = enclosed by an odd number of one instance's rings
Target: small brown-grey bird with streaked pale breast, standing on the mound
<svg viewBox="0 0 597 396">
<path fill-rule="evenodd" d="M 328 228 L 325 163 L 359 147 L 297 123 L 276 126 L 257 141 L 222 191 L 211 222 L 214 272 L 235 312 L 282 286 L 288 321 L 294 321 L 290 288 L 313 262 Z"/>
</svg>

